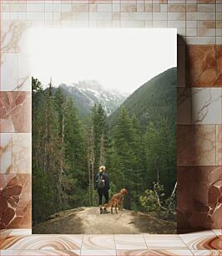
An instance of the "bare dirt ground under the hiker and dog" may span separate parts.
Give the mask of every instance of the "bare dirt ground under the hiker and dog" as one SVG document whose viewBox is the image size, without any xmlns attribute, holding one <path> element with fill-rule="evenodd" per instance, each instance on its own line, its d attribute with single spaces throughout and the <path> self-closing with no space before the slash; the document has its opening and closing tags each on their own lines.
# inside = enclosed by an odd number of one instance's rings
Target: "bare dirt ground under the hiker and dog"
<svg viewBox="0 0 222 256">
<path fill-rule="evenodd" d="M 176 223 L 160 220 L 154 213 L 99 214 L 98 207 L 81 207 L 54 214 L 33 227 L 33 233 L 176 233 Z"/>
</svg>

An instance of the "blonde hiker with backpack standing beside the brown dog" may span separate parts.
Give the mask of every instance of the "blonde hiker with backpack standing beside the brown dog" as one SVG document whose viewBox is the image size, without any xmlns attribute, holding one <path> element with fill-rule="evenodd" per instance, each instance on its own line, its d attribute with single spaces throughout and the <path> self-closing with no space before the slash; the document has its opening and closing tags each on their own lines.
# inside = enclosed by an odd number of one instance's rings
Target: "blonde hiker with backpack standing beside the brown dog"
<svg viewBox="0 0 222 256">
<path fill-rule="evenodd" d="M 108 203 L 109 190 L 108 175 L 105 173 L 105 169 L 105 166 L 100 166 L 99 171 L 95 177 L 95 187 L 98 191 L 98 206 L 100 208 L 100 214 L 109 213 L 105 207 L 103 208 L 103 197 L 105 197 L 105 203 Z"/>
</svg>

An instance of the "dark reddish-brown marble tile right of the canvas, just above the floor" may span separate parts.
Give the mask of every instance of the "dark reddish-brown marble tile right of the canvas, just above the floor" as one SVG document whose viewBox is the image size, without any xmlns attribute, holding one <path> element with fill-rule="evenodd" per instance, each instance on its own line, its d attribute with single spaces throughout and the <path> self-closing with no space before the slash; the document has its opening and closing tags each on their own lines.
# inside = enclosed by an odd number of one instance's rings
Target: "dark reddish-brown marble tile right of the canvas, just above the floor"
<svg viewBox="0 0 222 256">
<path fill-rule="evenodd" d="M 178 167 L 178 230 L 222 227 L 220 166 Z"/>
</svg>

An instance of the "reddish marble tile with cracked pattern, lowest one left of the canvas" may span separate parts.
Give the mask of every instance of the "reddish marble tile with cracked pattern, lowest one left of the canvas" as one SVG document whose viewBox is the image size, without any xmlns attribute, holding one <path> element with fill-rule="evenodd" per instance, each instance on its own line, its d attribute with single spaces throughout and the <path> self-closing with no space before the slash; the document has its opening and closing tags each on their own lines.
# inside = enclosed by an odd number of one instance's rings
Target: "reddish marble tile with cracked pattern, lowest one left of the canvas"
<svg viewBox="0 0 222 256">
<path fill-rule="evenodd" d="M 31 228 L 31 175 L 0 175 L 0 228 Z"/>
</svg>

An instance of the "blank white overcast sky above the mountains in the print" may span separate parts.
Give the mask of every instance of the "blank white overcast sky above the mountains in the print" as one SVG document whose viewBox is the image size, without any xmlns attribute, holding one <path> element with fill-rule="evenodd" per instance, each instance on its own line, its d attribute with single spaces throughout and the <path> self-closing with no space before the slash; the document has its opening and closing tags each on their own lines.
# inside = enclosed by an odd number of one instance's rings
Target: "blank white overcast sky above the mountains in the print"
<svg viewBox="0 0 222 256">
<path fill-rule="evenodd" d="M 98 80 L 132 93 L 176 66 L 174 28 L 35 28 L 30 38 L 32 75 L 43 84 Z"/>
</svg>

